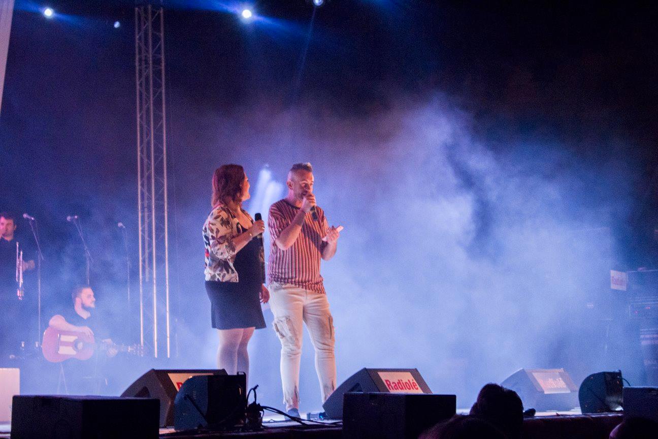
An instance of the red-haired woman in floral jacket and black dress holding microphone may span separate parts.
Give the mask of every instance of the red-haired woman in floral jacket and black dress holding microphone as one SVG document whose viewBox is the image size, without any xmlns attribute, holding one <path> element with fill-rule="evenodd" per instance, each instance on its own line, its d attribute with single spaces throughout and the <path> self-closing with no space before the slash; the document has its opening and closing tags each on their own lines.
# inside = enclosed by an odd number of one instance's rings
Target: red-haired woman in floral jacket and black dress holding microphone
<svg viewBox="0 0 658 439">
<path fill-rule="evenodd" d="M 247 344 L 255 329 L 265 328 L 261 302 L 270 298 L 263 284 L 263 246 L 256 238 L 265 223 L 242 209 L 249 196 L 249 179 L 240 165 L 215 170 L 213 210 L 203 224 L 205 286 L 219 334 L 217 367 L 229 374 L 249 372 Z"/>
</svg>

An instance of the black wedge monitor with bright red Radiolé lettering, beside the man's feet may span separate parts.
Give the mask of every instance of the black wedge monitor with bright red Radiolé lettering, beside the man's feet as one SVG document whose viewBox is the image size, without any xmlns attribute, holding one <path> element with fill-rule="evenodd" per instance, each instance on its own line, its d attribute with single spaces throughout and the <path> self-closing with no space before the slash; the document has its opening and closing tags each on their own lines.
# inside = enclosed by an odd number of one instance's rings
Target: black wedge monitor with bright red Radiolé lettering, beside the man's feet
<svg viewBox="0 0 658 439">
<path fill-rule="evenodd" d="M 347 392 L 431 394 L 418 369 L 361 369 L 331 394 L 322 408 L 330 419 L 343 419 L 343 395 Z"/>
</svg>

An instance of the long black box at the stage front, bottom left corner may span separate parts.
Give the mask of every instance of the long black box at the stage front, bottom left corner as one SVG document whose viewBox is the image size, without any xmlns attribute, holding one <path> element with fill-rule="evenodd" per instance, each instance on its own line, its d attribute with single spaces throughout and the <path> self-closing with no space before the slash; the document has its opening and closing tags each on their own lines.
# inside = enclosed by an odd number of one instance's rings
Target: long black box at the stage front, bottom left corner
<svg viewBox="0 0 658 439">
<path fill-rule="evenodd" d="M 12 439 L 157 439 L 160 401 L 101 396 L 14 396 Z"/>
</svg>

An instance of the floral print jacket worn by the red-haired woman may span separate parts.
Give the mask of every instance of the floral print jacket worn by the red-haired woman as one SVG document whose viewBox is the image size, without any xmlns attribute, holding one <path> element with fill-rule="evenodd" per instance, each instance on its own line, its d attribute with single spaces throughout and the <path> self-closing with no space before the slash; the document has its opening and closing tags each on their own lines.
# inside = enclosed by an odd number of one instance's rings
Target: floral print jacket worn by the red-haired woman
<svg viewBox="0 0 658 439">
<path fill-rule="evenodd" d="M 253 222 L 251 215 L 242 213 Z M 224 205 L 216 206 L 203 224 L 203 244 L 205 245 L 205 280 L 238 282 L 238 272 L 233 266 L 236 260 L 236 246 L 233 238 L 245 230 L 238 219 Z M 265 255 L 261 250 L 261 261 Z"/>
</svg>

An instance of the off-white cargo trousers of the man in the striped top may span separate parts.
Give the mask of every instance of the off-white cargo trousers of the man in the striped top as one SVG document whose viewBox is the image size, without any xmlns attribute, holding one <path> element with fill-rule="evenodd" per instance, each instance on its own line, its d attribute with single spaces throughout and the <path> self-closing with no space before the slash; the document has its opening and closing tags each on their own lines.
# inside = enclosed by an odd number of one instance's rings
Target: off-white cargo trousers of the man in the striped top
<svg viewBox="0 0 658 439">
<path fill-rule="evenodd" d="M 322 402 L 336 389 L 334 355 L 334 318 L 326 294 L 290 284 L 271 282 L 270 309 L 274 314 L 274 331 L 281 340 L 281 384 L 286 410 L 299 409 L 299 360 L 303 323 L 311 334 L 315 348 L 315 370 L 320 380 Z"/>
</svg>

